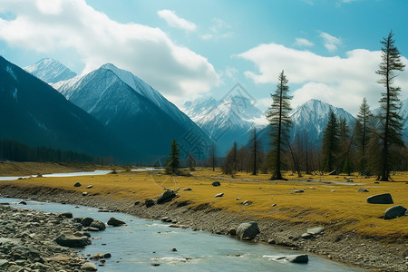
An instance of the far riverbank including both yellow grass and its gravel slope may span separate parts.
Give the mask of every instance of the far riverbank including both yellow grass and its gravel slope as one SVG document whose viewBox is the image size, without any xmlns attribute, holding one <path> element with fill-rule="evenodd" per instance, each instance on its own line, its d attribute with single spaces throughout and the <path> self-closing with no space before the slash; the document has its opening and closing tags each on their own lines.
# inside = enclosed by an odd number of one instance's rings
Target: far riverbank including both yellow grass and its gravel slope
<svg viewBox="0 0 408 272">
<path fill-rule="evenodd" d="M 145 219 L 168 217 L 179 225 L 219 234 L 256 220 L 262 242 L 314 252 L 373 271 L 406 271 L 408 217 L 381 218 L 393 205 L 408 206 L 404 179 L 400 175 L 394 180 L 401 182 L 378 184 L 368 179 L 350 182 L 350 177 L 313 176 L 272 182 L 267 175 L 254 179 L 240 174 L 230 179 L 219 171 L 201 169 L 191 177 L 170 177 L 156 171 L 3 181 L 0 191 L 15 198 L 106 207 Z M 212 186 L 214 180 L 221 186 Z M 76 182 L 82 186 L 73 187 Z M 87 188 L 89 185 L 92 188 Z M 369 193 L 357 192 L 363 187 Z M 145 199 L 157 199 L 164 188 L 179 189 L 178 197 L 147 208 Z M 187 188 L 191 190 L 184 190 Z M 214 198 L 220 192 L 224 196 Z M 366 203 L 369 195 L 382 192 L 393 195 L 393 205 Z M 315 227 L 325 230 L 302 238 L 307 228 Z"/>
</svg>

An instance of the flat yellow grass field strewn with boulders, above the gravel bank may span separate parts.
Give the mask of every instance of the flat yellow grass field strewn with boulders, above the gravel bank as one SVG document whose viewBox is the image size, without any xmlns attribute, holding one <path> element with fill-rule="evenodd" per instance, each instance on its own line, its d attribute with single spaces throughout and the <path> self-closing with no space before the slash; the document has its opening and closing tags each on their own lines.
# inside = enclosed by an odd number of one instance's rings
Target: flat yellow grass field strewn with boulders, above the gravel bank
<svg viewBox="0 0 408 272">
<path fill-rule="evenodd" d="M 199 168 L 191 172 L 191 177 L 172 177 L 160 171 L 118 172 L 105 176 L 85 176 L 74 178 L 34 178 L 28 180 L 2 181 L 23 187 L 46 186 L 60 189 L 88 191 L 90 195 L 100 194 L 112 199 L 155 199 L 166 189 L 180 189 L 176 201 L 189 201 L 191 207 L 205 204 L 211 209 L 223 209 L 255 219 L 280 219 L 294 224 L 307 222 L 324 225 L 326 228 L 355 229 L 362 236 L 377 238 L 407 238 L 408 217 L 384 220 L 384 210 L 394 205 L 408 208 L 408 172 L 398 172 L 394 181 L 374 183 L 374 178 L 364 179 L 351 176 L 353 183 L 339 176 L 305 176 L 300 180 L 286 174 L 287 181 L 268 180 L 270 175 L 251 176 L 238 173 L 234 179 L 222 175 L 217 169 Z M 304 180 L 311 181 L 304 181 Z M 211 183 L 219 180 L 220 187 Z M 75 182 L 83 184 L 74 188 Z M 329 182 L 331 181 L 331 182 Z M 0 183 L 1 184 L 1 183 Z M 85 189 L 87 185 L 92 189 Z M 190 188 L 190 191 L 183 189 Z M 357 189 L 369 192 L 357 192 Z M 296 193 L 295 190 L 304 192 Z M 222 198 L 214 198 L 217 193 Z M 394 204 L 368 204 L 367 197 L 389 192 Z M 239 200 L 237 200 L 239 198 Z M 248 206 L 242 202 L 252 202 Z M 271 207 L 272 204 L 277 204 Z"/>
</svg>

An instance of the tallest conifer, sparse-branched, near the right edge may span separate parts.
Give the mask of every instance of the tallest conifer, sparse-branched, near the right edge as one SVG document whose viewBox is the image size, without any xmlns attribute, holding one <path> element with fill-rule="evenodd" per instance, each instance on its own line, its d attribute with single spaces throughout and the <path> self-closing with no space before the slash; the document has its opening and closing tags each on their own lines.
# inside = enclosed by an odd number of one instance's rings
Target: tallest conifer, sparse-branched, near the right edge
<svg viewBox="0 0 408 272">
<path fill-rule="evenodd" d="M 381 76 L 378 83 L 382 84 L 385 92 L 382 92 L 380 99 L 380 114 L 378 116 L 380 121 L 379 137 L 381 144 L 381 170 L 379 172 L 379 179 L 386 181 L 390 176 L 390 170 L 393 163 L 393 146 L 403 146 L 402 131 L 403 118 L 399 114 L 401 109 L 401 102 L 398 98 L 400 87 L 393 85 L 394 79 L 397 76 L 395 72 L 404 70 L 405 65 L 401 62 L 401 55 L 395 46 L 393 39 L 393 31 L 381 41 L 383 47 L 381 48 L 381 63 L 379 65 L 377 74 Z"/>
</svg>

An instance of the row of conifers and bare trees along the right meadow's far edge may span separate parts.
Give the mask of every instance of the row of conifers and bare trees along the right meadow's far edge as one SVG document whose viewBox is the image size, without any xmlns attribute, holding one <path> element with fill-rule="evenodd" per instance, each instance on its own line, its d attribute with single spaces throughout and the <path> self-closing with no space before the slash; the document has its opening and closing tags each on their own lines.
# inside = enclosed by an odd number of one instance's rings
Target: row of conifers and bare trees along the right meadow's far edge
<svg viewBox="0 0 408 272">
<path fill-rule="evenodd" d="M 221 164 L 222 171 L 225 174 L 247 171 L 255 175 L 261 170 L 272 173 L 271 180 L 283 180 L 282 170 L 293 170 L 299 176 L 302 171 L 306 174 L 349 175 L 358 171 L 365 176 L 375 175 L 378 180 L 389 180 L 393 170 L 407 170 L 408 152 L 403 142 L 403 117 L 398 97 L 401 88 L 394 85 L 397 72 L 403 72 L 405 65 L 401 62 L 392 31 L 381 44 L 381 63 L 376 73 L 384 92 L 381 92 L 378 114 L 370 111 L 364 98 L 354 124 L 338 118 L 333 111 L 329 112 L 320 149 L 311 146 L 306 133 L 302 135 L 301 131 L 297 131 L 296 139 L 289 141 L 292 97 L 288 94 L 287 76 L 282 71 L 267 112 L 271 151 L 264 154 L 257 149 L 260 145 L 254 130 L 249 149 L 242 147 L 238 150 L 237 144 L 233 144 Z"/>
</svg>

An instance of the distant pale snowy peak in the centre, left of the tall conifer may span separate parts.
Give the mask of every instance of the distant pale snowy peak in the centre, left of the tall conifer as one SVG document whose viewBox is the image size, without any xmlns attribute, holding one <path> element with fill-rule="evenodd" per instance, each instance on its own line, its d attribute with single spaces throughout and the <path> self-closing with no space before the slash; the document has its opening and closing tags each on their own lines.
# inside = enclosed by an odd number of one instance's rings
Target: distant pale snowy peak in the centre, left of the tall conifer
<svg viewBox="0 0 408 272">
<path fill-rule="evenodd" d="M 243 95 L 228 95 L 222 100 L 210 97 L 184 103 L 184 112 L 217 143 L 217 153 L 224 156 L 234 141 L 238 146 L 250 139 L 251 130 L 267 125 L 265 114 Z"/>
</svg>

